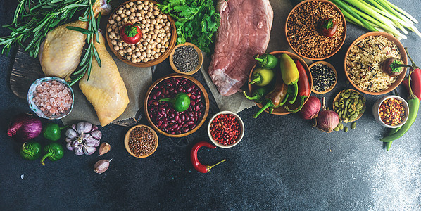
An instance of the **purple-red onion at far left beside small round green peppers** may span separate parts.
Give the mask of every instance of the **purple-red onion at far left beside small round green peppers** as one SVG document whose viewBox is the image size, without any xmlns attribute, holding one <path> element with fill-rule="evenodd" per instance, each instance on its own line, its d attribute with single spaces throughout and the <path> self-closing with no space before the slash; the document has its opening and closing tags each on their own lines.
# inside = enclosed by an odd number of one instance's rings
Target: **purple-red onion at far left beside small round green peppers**
<svg viewBox="0 0 421 211">
<path fill-rule="evenodd" d="M 27 113 L 20 113 L 13 117 L 7 130 L 8 136 L 15 136 L 18 141 L 25 142 L 34 139 L 42 132 L 42 123 L 39 118 Z"/>
</svg>

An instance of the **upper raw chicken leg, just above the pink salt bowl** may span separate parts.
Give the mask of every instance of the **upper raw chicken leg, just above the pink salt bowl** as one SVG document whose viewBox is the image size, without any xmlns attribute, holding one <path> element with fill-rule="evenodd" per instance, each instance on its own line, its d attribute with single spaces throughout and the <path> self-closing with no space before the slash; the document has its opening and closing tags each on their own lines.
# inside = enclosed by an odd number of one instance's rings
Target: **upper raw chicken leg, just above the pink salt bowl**
<svg viewBox="0 0 421 211">
<path fill-rule="evenodd" d="M 96 0 L 92 5 L 94 15 L 96 16 L 104 8 L 106 9 L 104 6 L 107 6 L 105 0 Z M 88 22 L 77 20 L 65 23 L 46 34 L 39 52 L 39 62 L 46 76 L 56 76 L 68 80 L 70 74 L 79 65 L 87 34 L 68 30 L 66 28 L 68 26 L 87 29 Z"/>
</svg>

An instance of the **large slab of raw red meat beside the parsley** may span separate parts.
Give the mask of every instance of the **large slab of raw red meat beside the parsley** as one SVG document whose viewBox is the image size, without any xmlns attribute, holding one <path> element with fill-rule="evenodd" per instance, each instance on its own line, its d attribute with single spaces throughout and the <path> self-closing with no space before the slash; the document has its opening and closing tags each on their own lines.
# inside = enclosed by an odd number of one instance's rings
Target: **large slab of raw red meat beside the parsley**
<svg viewBox="0 0 421 211">
<path fill-rule="evenodd" d="M 255 60 L 265 53 L 273 11 L 269 0 L 219 0 L 221 24 L 209 75 L 222 95 L 232 95 L 247 81 Z"/>
</svg>

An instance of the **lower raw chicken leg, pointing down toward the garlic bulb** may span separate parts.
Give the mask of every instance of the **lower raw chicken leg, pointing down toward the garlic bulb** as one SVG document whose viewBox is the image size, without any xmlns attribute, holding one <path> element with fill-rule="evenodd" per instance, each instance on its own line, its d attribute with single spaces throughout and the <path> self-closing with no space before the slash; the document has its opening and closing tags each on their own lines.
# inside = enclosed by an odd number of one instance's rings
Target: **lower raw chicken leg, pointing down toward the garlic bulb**
<svg viewBox="0 0 421 211">
<path fill-rule="evenodd" d="M 106 50 L 105 43 L 102 35 L 99 36 L 99 43 L 94 39 L 94 46 L 101 58 L 101 68 L 94 57 L 89 80 L 87 75 L 84 75 L 79 82 L 80 90 L 94 106 L 102 126 L 110 124 L 119 117 L 129 103 L 127 89 L 117 65 Z"/>
</svg>

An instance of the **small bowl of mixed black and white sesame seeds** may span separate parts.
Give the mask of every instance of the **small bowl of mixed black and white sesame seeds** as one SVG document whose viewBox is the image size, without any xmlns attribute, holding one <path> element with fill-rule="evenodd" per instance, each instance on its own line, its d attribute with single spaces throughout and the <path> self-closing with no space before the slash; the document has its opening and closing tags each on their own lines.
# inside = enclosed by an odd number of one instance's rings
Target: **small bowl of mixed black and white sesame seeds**
<svg viewBox="0 0 421 211">
<path fill-rule="evenodd" d="M 337 84 L 337 70 L 330 63 L 318 61 L 311 64 L 308 68 L 310 68 L 311 77 L 313 78 L 311 91 L 315 94 L 325 94 Z"/>
</svg>

